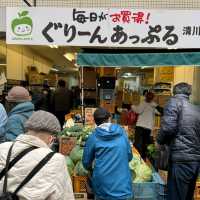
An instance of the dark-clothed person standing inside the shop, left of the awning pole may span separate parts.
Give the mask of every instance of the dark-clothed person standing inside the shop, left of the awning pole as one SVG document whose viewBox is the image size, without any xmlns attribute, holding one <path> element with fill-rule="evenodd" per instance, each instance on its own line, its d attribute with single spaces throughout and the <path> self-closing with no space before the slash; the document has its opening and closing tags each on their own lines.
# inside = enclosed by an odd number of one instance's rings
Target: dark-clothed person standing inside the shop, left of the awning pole
<svg viewBox="0 0 200 200">
<path fill-rule="evenodd" d="M 66 88 L 66 82 L 64 80 L 59 80 L 58 88 L 52 95 L 52 108 L 61 126 L 64 125 L 65 115 L 70 113 L 72 108 L 71 102 L 71 91 Z"/>
</svg>

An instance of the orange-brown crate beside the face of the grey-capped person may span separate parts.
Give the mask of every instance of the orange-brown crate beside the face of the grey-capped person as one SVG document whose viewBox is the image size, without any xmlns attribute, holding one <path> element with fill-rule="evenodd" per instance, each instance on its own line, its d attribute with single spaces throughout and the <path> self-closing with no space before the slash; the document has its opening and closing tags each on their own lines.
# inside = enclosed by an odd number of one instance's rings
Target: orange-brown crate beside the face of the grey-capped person
<svg viewBox="0 0 200 200">
<path fill-rule="evenodd" d="M 76 137 L 60 137 L 59 138 L 59 153 L 69 155 L 72 149 L 76 146 Z"/>
</svg>

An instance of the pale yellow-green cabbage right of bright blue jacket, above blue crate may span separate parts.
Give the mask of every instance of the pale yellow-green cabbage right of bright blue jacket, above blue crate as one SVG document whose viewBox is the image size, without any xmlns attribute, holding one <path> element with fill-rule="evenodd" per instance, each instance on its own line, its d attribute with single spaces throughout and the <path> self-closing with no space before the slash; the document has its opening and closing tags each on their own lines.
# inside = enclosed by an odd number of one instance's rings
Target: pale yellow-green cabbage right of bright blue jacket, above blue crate
<svg viewBox="0 0 200 200">
<path fill-rule="evenodd" d="M 139 157 L 134 157 L 129 163 L 134 183 L 143 183 L 152 180 L 151 168 Z"/>
</svg>

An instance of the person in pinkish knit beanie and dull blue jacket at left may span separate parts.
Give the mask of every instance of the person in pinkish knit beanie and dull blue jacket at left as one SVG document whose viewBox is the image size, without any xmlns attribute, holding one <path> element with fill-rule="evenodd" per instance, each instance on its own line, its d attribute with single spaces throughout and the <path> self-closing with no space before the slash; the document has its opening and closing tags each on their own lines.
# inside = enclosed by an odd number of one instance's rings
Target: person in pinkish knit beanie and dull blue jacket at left
<svg viewBox="0 0 200 200">
<path fill-rule="evenodd" d="M 8 121 L 5 126 L 5 140 L 13 141 L 24 133 L 24 124 L 33 114 L 34 105 L 27 89 L 21 86 L 13 87 L 6 97 L 8 102 Z"/>
</svg>

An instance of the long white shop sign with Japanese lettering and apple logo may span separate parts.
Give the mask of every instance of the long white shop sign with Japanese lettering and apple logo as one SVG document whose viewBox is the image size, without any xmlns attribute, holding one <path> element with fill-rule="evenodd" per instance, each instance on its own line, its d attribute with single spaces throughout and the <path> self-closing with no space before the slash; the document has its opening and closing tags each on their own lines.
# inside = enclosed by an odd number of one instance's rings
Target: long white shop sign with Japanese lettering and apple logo
<svg viewBox="0 0 200 200">
<path fill-rule="evenodd" d="M 200 10 L 7 8 L 7 43 L 200 48 Z"/>
</svg>

